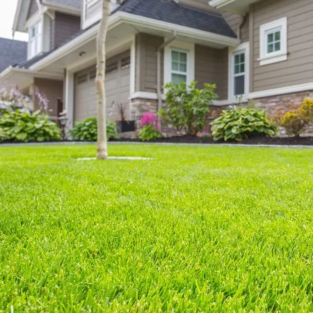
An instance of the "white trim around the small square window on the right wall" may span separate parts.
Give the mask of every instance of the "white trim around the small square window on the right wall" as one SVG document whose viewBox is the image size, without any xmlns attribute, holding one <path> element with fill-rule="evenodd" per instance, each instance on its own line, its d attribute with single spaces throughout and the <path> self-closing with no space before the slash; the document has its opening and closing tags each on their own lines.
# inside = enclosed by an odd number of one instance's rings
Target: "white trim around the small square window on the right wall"
<svg viewBox="0 0 313 313">
<path fill-rule="evenodd" d="M 267 53 L 267 33 L 275 29 L 280 29 L 280 51 Z M 268 65 L 287 61 L 287 17 L 277 19 L 273 22 L 263 24 L 259 27 L 259 65 Z"/>
</svg>

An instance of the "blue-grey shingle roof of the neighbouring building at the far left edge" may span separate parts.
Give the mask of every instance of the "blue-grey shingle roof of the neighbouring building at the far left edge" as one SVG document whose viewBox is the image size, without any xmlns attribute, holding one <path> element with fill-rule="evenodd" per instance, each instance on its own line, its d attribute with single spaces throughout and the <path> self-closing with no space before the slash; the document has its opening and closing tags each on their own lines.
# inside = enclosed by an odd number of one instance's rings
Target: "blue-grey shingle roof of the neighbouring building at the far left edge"
<svg viewBox="0 0 313 313">
<path fill-rule="evenodd" d="M 0 72 L 27 58 L 27 42 L 0 38 Z"/>
</svg>

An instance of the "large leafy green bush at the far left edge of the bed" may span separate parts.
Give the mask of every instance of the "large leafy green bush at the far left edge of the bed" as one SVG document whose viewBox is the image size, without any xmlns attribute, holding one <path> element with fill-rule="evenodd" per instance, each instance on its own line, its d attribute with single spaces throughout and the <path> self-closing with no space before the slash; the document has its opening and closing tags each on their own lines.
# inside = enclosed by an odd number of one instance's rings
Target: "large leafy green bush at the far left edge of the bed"
<svg viewBox="0 0 313 313">
<path fill-rule="evenodd" d="M 61 129 L 47 115 L 8 110 L 1 114 L 0 140 L 54 141 L 61 140 Z"/>
</svg>

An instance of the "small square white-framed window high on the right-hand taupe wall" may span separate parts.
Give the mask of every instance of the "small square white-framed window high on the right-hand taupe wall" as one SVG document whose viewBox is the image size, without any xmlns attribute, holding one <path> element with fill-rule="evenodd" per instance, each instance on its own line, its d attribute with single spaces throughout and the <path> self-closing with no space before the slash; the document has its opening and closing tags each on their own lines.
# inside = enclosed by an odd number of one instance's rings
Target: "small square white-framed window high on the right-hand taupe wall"
<svg viewBox="0 0 313 313">
<path fill-rule="evenodd" d="M 287 17 L 260 26 L 260 65 L 287 61 Z"/>
</svg>

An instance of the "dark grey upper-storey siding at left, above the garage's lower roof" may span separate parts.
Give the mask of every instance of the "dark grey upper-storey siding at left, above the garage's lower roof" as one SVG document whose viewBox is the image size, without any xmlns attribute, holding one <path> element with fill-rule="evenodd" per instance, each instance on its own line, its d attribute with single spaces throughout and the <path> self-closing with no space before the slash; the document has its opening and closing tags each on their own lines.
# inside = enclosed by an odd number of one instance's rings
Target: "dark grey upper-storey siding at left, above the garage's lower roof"
<svg viewBox="0 0 313 313">
<path fill-rule="evenodd" d="M 56 18 L 52 26 L 54 27 L 51 31 L 53 36 L 51 49 L 54 49 L 61 46 L 81 29 L 81 18 L 56 12 Z"/>
</svg>

